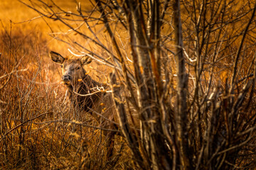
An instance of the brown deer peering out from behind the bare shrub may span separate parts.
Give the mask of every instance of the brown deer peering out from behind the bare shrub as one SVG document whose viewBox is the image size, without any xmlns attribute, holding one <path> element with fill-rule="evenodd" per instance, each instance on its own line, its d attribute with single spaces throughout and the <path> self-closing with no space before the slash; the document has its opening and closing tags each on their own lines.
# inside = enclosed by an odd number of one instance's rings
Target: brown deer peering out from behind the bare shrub
<svg viewBox="0 0 256 170">
<path fill-rule="evenodd" d="M 62 80 L 68 89 L 70 102 L 80 113 L 92 115 L 103 130 L 107 145 L 107 159 L 112 157 L 114 135 L 117 135 L 117 124 L 114 123 L 114 104 L 112 96 L 107 93 L 106 84 L 95 81 L 87 74 L 84 66 L 92 62 L 88 55 L 83 57 L 63 57 L 58 52 L 50 51 L 53 62 L 62 68 Z M 105 107 L 107 106 L 107 107 Z"/>
</svg>

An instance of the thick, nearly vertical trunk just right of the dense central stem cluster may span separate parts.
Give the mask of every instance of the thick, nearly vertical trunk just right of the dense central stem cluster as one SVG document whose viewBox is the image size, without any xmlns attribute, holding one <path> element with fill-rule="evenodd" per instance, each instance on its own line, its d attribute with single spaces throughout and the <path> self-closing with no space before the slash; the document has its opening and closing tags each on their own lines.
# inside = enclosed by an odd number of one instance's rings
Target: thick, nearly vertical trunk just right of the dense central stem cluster
<svg viewBox="0 0 256 170">
<path fill-rule="evenodd" d="M 182 38 L 182 26 L 181 26 L 181 9 L 180 1 L 174 0 L 173 4 L 174 10 L 174 31 L 175 31 L 175 45 L 176 45 L 176 55 L 175 60 L 177 64 L 178 73 L 178 98 L 176 102 L 176 142 L 179 149 L 179 157 L 181 169 L 188 169 L 189 159 L 188 159 L 188 132 L 187 132 L 187 85 L 188 85 L 188 74 L 186 73 L 185 67 L 185 57 L 183 55 L 183 38 Z"/>
</svg>

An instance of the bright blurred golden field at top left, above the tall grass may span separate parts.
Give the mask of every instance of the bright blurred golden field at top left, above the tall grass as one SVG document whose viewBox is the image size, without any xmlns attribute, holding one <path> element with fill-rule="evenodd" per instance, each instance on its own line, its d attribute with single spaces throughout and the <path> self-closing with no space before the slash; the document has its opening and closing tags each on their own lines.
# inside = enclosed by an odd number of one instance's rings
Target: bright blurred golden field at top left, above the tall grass
<svg viewBox="0 0 256 170">
<path fill-rule="evenodd" d="M 29 1 L 23 1 L 29 4 Z M 66 0 L 61 1 L 57 0 L 54 1 L 55 4 L 59 5 L 63 10 L 67 11 L 75 11 L 75 1 Z M 46 1 L 48 5 L 52 5 L 53 3 L 49 0 Z M 85 6 L 85 10 L 90 10 L 92 5 L 88 0 L 80 1 L 82 6 Z M 40 14 L 36 11 L 33 11 L 31 8 L 28 8 L 20 1 L 8 1 L 2 0 L 0 1 L 0 18 L 2 25 L 1 30 L 7 29 L 9 30 L 12 28 L 13 32 L 15 33 L 16 30 L 21 31 L 21 33 L 40 33 L 43 38 L 45 38 L 47 42 L 47 46 L 50 47 L 51 50 L 64 50 L 66 52 L 65 44 L 50 38 L 50 34 L 58 33 L 61 31 L 67 31 L 68 28 L 63 26 L 59 22 L 50 21 L 43 19 Z M 50 26 L 50 27 L 49 27 Z"/>
</svg>

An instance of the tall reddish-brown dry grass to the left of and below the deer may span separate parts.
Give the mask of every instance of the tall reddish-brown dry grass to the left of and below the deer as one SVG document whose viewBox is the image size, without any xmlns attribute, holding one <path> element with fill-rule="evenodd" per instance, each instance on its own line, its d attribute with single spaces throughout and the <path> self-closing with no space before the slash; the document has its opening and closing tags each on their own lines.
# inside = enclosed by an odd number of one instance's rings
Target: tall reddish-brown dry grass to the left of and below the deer
<svg viewBox="0 0 256 170">
<path fill-rule="evenodd" d="M 128 169 L 119 138 L 105 158 L 104 136 L 87 114 L 70 106 L 47 41 L 35 30 L 0 34 L 0 169 Z"/>
</svg>

